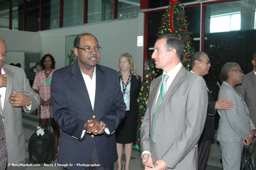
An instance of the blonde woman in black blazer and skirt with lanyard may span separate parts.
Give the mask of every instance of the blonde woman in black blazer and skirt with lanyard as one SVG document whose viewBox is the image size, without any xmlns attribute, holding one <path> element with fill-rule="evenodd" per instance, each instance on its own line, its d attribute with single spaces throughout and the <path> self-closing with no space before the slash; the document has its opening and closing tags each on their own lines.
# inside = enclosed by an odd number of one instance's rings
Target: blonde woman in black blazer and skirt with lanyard
<svg viewBox="0 0 256 170">
<path fill-rule="evenodd" d="M 119 57 L 118 74 L 120 86 L 126 104 L 125 118 L 116 130 L 116 147 L 118 153 L 117 170 L 122 169 L 122 148 L 125 144 L 125 170 L 129 170 L 132 143 L 136 140 L 139 105 L 137 98 L 140 92 L 141 77 L 136 74 L 134 59 L 129 53 Z"/>
</svg>

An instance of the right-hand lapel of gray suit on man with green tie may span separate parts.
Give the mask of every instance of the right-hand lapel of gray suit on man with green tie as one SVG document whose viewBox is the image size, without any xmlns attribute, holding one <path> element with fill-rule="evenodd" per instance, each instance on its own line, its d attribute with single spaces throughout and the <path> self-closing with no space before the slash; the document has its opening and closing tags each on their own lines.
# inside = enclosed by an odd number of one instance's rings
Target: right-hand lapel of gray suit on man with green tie
<svg viewBox="0 0 256 170">
<path fill-rule="evenodd" d="M 183 81 L 186 71 L 187 71 L 186 68 L 184 68 L 183 66 L 178 71 L 177 75 L 175 76 L 173 82 L 171 83 L 170 87 L 168 88 L 168 90 L 165 94 L 163 102 L 159 108 L 159 112 L 163 109 L 163 107 L 165 106 L 165 104 L 167 103 L 169 98 L 171 98 L 171 95 L 174 93 L 176 88 L 179 86 L 180 82 Z"/>
</svg>

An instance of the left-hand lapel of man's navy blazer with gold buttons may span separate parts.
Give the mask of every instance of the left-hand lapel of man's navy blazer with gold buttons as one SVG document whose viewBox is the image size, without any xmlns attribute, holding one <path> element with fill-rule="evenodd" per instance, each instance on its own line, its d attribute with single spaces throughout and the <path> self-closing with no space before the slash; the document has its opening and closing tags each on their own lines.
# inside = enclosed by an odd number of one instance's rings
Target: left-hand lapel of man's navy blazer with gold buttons
<svg viewBox="0 0 256 170">
<path fill-rule="evenodd" d="M 82 72 L 80 70 L 78 62 L 73 64 L 71 73 L 73 74 L 71 76 L 71 79 L 73 81 L 74 86 L 77 88 L 77 91 L 80 93 L 80 97 L 85 101 L 87 106 L 91 108 L 92 111 L 90 97 L 85 85 L 84 78 L 82 77 Z"/>
</svg>

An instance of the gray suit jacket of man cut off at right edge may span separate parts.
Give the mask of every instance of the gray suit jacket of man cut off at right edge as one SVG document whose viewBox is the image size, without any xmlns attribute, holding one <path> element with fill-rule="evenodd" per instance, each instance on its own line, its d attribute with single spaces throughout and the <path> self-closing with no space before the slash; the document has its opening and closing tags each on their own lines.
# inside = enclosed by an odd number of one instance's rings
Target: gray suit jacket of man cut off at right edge
<svg viewBox="0 0 256 170">
<path fill-rule="evenodd" d="M 245 99 L 249 108 L 250 118 L 256 126 L 256 75 L 254 71 L 246 74 L 243 84 L 236 86 L 238 93 Z"/>
</svg>

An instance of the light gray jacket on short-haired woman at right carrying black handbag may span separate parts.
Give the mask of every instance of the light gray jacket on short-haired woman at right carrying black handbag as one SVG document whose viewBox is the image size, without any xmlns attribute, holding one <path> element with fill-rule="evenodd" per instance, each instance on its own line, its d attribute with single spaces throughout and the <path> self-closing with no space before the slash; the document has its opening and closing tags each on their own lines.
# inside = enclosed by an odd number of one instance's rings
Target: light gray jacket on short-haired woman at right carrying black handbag
<svg viewBox="0 0 256 170">
<path fill-rule="evenodd" d="M 226 101 L 234 101 L 235 106 L 232 110 L 218 110 L 220 121 L 217 140 L 240 143 L 245 139 L 245 136 L 250 135 L 250 131 L 255 127 L 249 117 L 249 109 L 243 97 L 238 95 L 232 86 L 223 81 L 218 99 L 225 96 L 227 96 Z"/>
</svg>

